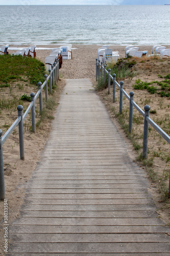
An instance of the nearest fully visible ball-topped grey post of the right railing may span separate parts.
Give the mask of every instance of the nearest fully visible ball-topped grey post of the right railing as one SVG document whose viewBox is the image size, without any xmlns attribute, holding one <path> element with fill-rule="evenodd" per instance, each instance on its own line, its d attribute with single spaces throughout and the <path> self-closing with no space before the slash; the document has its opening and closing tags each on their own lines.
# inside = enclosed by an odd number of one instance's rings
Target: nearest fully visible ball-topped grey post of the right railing
<svg viewBox="0 0 170 256">
<path fill-rule="evenodd" d="M 147 121 L 147 116 L 150 115 L 150 106 L 144 106 L 144 130 L 143 130 L 143 152 L 142 158 L 147 158 L 147 150 L 148 150 L 148 130 L 149 130 L 149 122 Z"/>
</svg>

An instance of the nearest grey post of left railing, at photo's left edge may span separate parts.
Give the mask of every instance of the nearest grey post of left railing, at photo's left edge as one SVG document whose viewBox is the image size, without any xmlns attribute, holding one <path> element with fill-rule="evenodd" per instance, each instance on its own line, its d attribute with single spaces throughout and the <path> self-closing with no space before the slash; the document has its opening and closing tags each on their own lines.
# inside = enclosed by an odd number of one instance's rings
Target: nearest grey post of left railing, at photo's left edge
<svg viewBox="0 0 170 256">
<path fill-rule="evenodd" d="M 0 130 L 0 200 L 5 199 L 5 179 L 4 179 L 4 163 L 3 163 L 3 131 Z"/>
</svg>

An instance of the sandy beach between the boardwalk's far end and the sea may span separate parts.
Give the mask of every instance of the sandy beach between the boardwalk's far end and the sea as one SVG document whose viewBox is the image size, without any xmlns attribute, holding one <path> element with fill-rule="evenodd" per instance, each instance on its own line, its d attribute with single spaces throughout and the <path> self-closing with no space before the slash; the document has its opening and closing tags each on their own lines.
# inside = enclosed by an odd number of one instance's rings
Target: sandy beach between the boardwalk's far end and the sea
<svg viewBox="0 0 170 256">
<path fill-rule="evenodd" d="M 10 46 L 21 47 L 21 46 Z M 27 47 L 27 46 L 23 46 Z M 42 62 L 45 61 L 45 57 L 50 55 L 51 49 L 58 47 L 58 45 L 40 45 L 36 46 L 36 57 Z M 97 51 L 101 45 L 72 45 L 72 59 L 64 60 L 60 74 L 63 78 L 95 78 L 95 59 L 98 57 Z M 152 54 L 152 46 L 138 46 L 139 51 L 148 51 L 148 54 Z M 165 46 L 169 48 L 168 46 Z M 49 48 L 49 50 L 38 50 L 38 48 Z M 119 57 L 125 57 L 125 46 L 110 45 L 109 49 L 119 52 Z M 16 50 L 9 50 L 9 53 L 16 52 Z"/>
</svg>

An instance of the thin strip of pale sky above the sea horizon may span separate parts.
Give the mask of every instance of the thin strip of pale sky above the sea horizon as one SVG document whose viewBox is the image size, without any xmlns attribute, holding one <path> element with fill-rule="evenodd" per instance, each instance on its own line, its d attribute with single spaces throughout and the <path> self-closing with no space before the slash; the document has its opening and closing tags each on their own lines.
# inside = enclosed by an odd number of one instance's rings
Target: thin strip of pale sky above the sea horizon
<svg viewBox="0 0 170 256">
<path fill-rule="evenodd" d="M 169 0 L 0 0 L 0 5 L 164 5 Z"/>
</svg>

